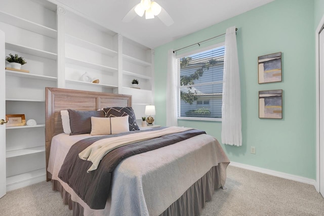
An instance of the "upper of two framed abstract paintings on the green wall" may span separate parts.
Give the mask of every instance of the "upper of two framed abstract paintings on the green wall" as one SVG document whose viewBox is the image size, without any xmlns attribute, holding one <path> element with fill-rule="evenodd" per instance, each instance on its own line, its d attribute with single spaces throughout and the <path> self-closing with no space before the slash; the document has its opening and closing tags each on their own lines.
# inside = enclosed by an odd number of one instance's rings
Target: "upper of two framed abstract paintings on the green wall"
<svg viewBox="0 0 324 216">
<path fill-rule="evenodd" d="M 281 52 L 258 57 L 259 84 L 281 81 Z"/>
</svg>

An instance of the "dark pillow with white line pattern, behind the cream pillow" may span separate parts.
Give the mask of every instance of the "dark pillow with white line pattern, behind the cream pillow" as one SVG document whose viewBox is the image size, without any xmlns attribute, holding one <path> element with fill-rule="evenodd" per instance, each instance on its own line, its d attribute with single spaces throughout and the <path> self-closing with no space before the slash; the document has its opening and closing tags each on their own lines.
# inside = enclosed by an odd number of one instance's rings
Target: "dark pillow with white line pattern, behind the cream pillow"
<svg viewBox="0 0 324 216">
<path fill-rule="evenodd" d="M 120 117 L 128 115 L 129 129 L 130 131 L 137 131 L 140 128 L 136 123 L 136 117 L 132 107 L 106 107 L 103 108 L 105 117 Z"/>
</svg>

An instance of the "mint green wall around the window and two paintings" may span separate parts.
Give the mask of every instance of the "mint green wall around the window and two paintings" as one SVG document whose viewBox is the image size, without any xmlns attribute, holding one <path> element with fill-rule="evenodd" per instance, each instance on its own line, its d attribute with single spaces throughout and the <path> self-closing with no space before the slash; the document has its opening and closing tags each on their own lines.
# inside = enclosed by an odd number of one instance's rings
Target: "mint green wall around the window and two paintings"
<svg viewBox="0 0 324 216">
<path fill-rule="evenodd" d="M 166 125 L 168 50 L 224 33 L 235 25 L 243 144 L 222 144 L 223 149 L 231 161 L 315 179 L 314 26 L 321 19 L 322 6 L 322 0 L 276 0 L 155 48 L 156 124 Z M 322 8 L 315 11 L 316 7 Z M 218 40 L 224 41 L 225 37 Z M 258 56 L 276 52 L 282 52 L 282 81 L 258 84 Z M 259 119 L 258 92 L 277 89 L 283 90 L 283 118 Z M 221 142 L 221 122 L 178 122 L 180 126 L 203 129 Z M 256 147 L 256 154 L 250 153 L 251 146 Z"/>
</svg>

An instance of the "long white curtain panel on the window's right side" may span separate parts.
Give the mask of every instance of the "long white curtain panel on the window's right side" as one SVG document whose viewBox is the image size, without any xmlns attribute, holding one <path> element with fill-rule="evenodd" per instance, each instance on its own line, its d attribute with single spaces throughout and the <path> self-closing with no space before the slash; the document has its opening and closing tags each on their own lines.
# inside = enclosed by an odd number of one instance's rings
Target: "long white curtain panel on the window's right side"
<svg viewBox="0 0 324 216">
<path fill-rule="evenodd" d="M 241 146 L 241 93 L 235 26 L 226 29 L 223 80 L 222 143 Z"/>
</svg>

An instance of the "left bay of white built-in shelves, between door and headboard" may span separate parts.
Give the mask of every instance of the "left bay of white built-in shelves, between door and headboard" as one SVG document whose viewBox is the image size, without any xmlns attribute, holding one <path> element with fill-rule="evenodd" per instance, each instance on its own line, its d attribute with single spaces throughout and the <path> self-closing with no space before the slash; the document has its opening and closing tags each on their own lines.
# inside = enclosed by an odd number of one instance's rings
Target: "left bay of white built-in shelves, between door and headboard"
<svg viewBox="0 0 324 216">
<path fill-rule="evenodd" d="M 5 54 L 22 56 L 27 61 L 22 69 L 29 71 L 5 70 L 6 114 L 37 122 L 6 127 L 7 191 L 46 180 L 45 87 L 57 87 L 58 31 L 56 6 L 45 2 L 9 1 L 0 9 Z"/>
</svg>

